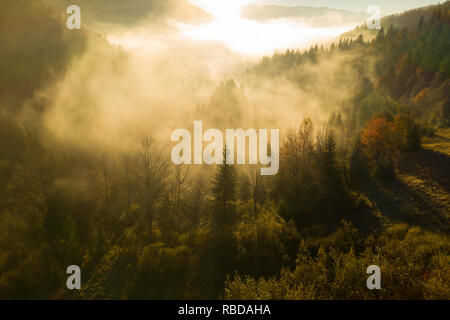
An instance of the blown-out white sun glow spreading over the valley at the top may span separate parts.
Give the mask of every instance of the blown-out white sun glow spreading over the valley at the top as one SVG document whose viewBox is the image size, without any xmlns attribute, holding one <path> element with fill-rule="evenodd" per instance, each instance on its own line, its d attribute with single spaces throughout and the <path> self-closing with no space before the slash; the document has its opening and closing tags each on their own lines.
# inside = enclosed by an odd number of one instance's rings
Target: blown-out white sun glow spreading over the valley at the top
<svg viewBox="0 0 450 320">
<path fill-rule="evenodd" d="M 181 34 L 199 41 L 225 44 L 229 49 L 248 55 L 270 54 L 286 48 L 306 48 L 354 28 L 354 25 L 314 28 L 300 22 L 277 20 L 261 23 L 241 17 L 248 1 L 189 0 L 214 17 L 214 21 L 189 25 L 175 22 Z"/>
</svg>

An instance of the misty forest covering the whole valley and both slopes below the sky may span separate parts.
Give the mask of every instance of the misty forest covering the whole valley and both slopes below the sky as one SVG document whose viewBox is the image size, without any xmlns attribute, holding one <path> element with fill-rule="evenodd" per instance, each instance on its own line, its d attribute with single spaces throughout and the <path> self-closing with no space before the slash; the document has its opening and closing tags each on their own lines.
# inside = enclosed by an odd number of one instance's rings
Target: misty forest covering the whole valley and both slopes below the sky
<svg viewBox="0 0 450 320">
<path fill-rule="evenodd" d="M 382 26 L 218 83 L 174 72 L 159 96 L 171 60 L 139 91 L 125 80 L 141 66 L 104 35 L 6 2 L 0 298 L 449 299 L 450 2 Z M 166 131 L 194 120 L 280 128 L 279 172 L 174 165 Z"/>
</svg>

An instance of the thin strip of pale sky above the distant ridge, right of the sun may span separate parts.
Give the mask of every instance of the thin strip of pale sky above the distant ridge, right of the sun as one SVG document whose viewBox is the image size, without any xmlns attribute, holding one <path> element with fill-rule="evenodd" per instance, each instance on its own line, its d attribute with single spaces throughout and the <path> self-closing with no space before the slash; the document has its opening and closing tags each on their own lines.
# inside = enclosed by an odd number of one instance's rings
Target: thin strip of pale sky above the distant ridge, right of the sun
<svg viewBox="0 0 450 320">
<path fill-rule="evenodd" d="M 370 5 L 377 5 L 383 14 L 400 13 L 408 9 L 430 4 L 443 3 L 443 0 L 251 0 L 258 4 L 279 4 L 285 6 L 311 6 L 347 9 L 365 12 Z"/>
</svg>

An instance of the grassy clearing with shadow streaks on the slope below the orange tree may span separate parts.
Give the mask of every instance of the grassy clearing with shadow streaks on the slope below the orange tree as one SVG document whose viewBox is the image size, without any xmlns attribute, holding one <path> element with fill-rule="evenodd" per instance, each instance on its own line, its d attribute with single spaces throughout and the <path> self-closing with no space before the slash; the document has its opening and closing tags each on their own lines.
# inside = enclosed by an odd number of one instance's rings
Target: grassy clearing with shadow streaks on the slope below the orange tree
<svg viewBox="0 0 450 320">
<path fill-rule="evenodd" d="M 373 229 L 396 223 L 449 231 L 450 129 L 439 129 L 422 141 L 422 150 L 398 159 L 396 179 L 363 191 Z M 374 221 L 377 221 L 374 223 Z"/>
</svg>

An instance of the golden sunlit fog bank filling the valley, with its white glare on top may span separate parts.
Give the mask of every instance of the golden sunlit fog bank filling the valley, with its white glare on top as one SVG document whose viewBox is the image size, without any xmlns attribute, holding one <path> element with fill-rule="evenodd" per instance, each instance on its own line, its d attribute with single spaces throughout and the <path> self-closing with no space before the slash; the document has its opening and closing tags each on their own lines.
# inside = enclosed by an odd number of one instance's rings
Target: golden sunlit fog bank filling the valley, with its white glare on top
<svg viewBox="0 0 450 320">
<path fill-rule="evenodd" d="M 214 21 L 198 25 L 168 18 L 164 28 L 103 26 L 105 41 L 91 37 L 62 79 L 37 94 L 49 105 L 45 127 L 64 143 L 115 149 L 139 135 L 169 146 L 171 133 L 192 130 L 194 120 L 205 128 L 279 128 L 283 137 L 303 118 L 322 123 L 345 103 L 357 76 L 342 72 L 349 56 L 302 66 L 309 79 L 302 86 L 246 70 L 264 54 L 330 42 L 348 26 L 264 24 L 232 12 L 210 10 Z M 221 92 L 230 79 L 236 88 Z"/>
</svg>

